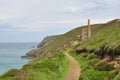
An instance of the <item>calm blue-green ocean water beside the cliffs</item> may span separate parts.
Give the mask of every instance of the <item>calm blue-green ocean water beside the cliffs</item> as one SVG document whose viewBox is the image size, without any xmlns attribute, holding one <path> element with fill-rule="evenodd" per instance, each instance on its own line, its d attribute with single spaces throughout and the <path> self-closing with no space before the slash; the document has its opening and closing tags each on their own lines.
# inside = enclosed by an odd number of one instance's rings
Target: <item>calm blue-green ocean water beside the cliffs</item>
<svg viewBox="0 0 120 80">
<path fill-rule="evenodd" d="M 0 75 L 10 69 L 20 69 L 30 61 L 21 56 L 38 43 L 0 43 Z"/>
</svg>

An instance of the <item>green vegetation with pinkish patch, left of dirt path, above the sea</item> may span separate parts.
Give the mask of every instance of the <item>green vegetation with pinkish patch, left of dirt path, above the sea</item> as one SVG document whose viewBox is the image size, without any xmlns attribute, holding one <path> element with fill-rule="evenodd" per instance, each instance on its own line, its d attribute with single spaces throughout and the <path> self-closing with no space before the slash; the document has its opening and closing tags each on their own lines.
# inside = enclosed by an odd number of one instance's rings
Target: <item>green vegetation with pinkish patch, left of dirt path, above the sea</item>
<svg viewBox="0 0 120 80">
<path fill-rule="evenodd" d="M 0 80 L 61 80 L 68 70 L 68 59 L 61 53 L 53 53 L 42 60 L 33 60 L 22 69 L 12 69 Z"/>
</svg>

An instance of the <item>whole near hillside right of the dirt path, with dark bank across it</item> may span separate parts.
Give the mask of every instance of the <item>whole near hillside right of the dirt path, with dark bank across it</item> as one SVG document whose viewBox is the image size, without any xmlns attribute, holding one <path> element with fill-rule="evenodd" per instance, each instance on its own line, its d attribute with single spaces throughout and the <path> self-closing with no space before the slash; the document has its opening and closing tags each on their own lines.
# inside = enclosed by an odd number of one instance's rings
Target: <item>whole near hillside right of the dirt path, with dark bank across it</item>
<svg viewBox="0 0 120 80">
<path fill-rule="evenodd" d="M 71 55 L 82 69 L 80 80 L 120 80 L 120 21 L 102 27 L 91 38 L 73 46 Z"/>
</svg>

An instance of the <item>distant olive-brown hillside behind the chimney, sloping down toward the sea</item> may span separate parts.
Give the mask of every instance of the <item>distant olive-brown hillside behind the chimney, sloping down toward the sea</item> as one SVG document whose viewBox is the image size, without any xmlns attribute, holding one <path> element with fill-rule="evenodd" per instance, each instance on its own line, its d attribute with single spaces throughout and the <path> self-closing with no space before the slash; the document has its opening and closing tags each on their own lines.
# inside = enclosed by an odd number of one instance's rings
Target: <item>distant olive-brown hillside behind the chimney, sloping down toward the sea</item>
<svg viewBox="0 0 120 80">
<path fill-rule="evenodd" d="M 103 24 L 95 24 L 95 25 L 91 25 L 91 26 L 92 26 L 92 32 L 93 32 L 92 35 L 94 35 L 104 29 Z M 34 56 L 34 54 L 35 54 L 38 56 L 37 58 L 41 59 L 41 58 L 47 56 L 47 53 L 62 50 L 76 40 L 81 41 L 80 37 L 78 37 L 78 36 L 81 35 L 82 29 L 84 27 L 86 27 L 86 26 L 75 28 L 65 34 L 62 34 L 62 35 L 46 37 L 38 45 L 38 49 L 34 50 L 32 53 L 31 53 L 31 51 L 28 52 L 27 56 Z M 44 45 L 40 46 L 41 44 L 44 44 Z"/>
</svg>

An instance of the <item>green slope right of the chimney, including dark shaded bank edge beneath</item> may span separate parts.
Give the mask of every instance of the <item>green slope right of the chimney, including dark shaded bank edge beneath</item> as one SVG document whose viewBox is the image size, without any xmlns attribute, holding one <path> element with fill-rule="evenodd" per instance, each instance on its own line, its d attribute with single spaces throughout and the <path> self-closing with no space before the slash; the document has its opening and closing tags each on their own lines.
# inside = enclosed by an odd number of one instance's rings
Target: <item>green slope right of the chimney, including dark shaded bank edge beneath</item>
<svg viewBox="0 0 120 80">
<path fill-rule="evenodd" d="M 77 44 L 78 52 L 94 52 L 97 55 L 119 55 L 120 54 L 120 21 L 114 21 L 103 25 L 104 29 Z M 84 52 L 83 51 L 83 52 Z"/>
</svg>

